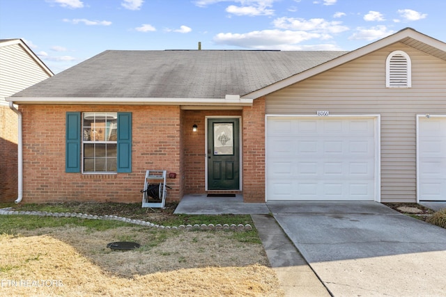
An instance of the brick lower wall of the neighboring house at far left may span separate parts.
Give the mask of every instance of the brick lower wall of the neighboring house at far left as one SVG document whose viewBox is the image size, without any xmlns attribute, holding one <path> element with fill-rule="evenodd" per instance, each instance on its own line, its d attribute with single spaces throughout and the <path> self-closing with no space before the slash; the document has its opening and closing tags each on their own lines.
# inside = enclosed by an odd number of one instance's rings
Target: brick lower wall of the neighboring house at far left
<svg viewBox="0 0 446 297">
<path fill-rule="evenodd" d="M 17 114 L 0 105 L 0 202 L 17 199 Z"/>
</svg>

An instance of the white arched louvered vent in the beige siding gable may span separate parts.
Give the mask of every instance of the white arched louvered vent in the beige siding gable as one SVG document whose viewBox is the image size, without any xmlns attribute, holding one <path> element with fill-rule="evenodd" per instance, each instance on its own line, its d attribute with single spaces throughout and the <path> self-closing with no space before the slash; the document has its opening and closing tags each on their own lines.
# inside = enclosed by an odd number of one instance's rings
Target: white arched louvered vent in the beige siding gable
<svg viewBox="0 0 446 297">
<path fill-rule="evenodd" d="M 412 86 L 410 57 L 404 51 L 392 51 L 385 61 L 385 70 L 387 88 Z"/>
</svg>

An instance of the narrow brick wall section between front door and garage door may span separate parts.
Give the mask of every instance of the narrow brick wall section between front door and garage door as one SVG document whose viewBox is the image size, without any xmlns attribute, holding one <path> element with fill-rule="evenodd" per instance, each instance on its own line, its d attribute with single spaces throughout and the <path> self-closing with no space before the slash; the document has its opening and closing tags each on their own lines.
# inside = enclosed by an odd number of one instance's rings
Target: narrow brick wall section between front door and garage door
<svg viewBox="0 0 446 297">
<path fill-rule="evenodd" d="M 243 199 L 265 202 L 265 98 L 243 108 Z"/>
</svg>

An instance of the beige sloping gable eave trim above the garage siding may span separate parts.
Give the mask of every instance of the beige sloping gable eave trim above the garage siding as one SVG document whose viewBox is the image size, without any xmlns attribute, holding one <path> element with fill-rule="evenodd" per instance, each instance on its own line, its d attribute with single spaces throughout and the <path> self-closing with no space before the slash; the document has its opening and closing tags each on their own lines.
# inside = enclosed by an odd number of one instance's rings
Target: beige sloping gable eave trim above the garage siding
<svg viewBox="0 0 446 297">
<path fill-rule="evenodd" d="M 425 43 L 426 45 L 430 45 L 431 47 L 436 47 L 441 51 L 446 52 L 446 43 L 441 42 L 440 40 L 436 40 L 435 38 L 431 38 L 428 35 L 424 35 L 420 32 L 415 31 L 411 28 L 403 29 L 393 35 L 387 36 L 386 38 L 380 39 L 376 42 L 373 42 L 364 47 L 360 47 L 359 49 L 355 49 L 354 51 L 350 51 L 347 54 L 334 58 L 330 61 L 317 65 L 316 67 L 310 68 L 309 70 L 305 70 L 304 72 L 300 72 L 298 74 L 293 75 L 287 79 L 282 81 L 278 81 L 277 83 L 273 83 L 270 86 L 266 86 L 265 88 L 261 88 L 252 93 L 244 95 L 243 99 L 255 99 L 270 93 L 273 93 L 282 88 L 286 88 L 291 86 L 293 83 L 298 83 L 299 81 L 303 81 L 304 79 L 308 79 L 309 77 L 314 77 L 314 75 L 321 74 L 327 70 L 330 70 L 334 67 L 342 65 L 344 63 L 348 63 L 350 61 L 355 60 L 356 58 L 360 58 L 365 56 L 373 51 L 378 49 L 382 49 L 383 47 L 387 47 L 396 42 L 403 40 L 404 38 L 414 38 L 419 40 L 420 42 Z"/>
</svg>

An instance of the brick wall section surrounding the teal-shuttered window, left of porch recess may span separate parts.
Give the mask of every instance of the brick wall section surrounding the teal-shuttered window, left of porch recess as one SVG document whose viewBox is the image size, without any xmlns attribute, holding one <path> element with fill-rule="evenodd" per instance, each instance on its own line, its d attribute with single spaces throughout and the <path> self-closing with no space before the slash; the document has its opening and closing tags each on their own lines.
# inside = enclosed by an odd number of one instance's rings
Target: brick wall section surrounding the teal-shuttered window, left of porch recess
<svg viewBox="0 0 446 297">
<path fill-rule="evenodd" d="M 22 105 L 23 202 L 141 202 L 147 169 L 180 172 L 178 106 Z M 67 111 L 132 112 L 132 172 L 65 172 Z M 168 200 L 180 199 L 180 179 L 167 179 Z"/>
</svg>

